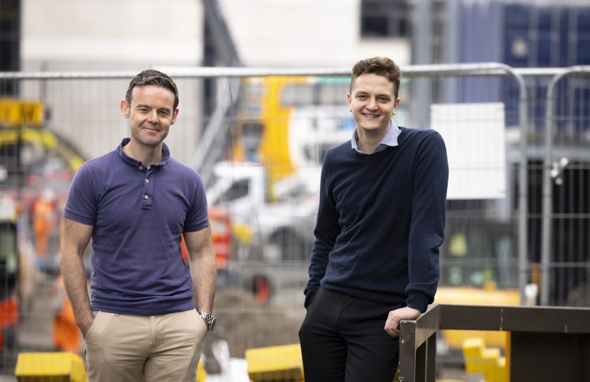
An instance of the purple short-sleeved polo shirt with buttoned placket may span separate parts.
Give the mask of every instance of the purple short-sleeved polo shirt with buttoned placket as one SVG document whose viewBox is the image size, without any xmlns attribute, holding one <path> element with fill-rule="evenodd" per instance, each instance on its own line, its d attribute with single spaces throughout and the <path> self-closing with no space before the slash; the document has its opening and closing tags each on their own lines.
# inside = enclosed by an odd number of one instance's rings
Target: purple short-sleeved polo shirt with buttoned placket
<svg viewBox="0 0 590 382">
<path fill-rule="evenodd" d="M 146 168 L 116 150 L 77 171 L 63 216 L 92 229 L 92 310 L 163 315 L 195 307 L 181 234 L 208 226 L 203 182 L 162 148 Z"/>
</svg>

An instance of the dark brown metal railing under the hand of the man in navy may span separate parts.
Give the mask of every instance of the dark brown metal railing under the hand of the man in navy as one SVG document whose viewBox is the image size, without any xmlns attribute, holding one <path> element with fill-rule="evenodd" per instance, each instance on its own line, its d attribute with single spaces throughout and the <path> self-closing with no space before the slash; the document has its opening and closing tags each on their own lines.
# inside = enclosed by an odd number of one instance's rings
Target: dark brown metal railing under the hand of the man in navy
<svg viewBox="0 0 590 382">
<path fill-rule="evenodd" d="M 431 305 L 402 320 L 399 382 L 434 382 L 442 329 L 510 332 L 510 381 L 590 381 L 590 309 Z"/>
</svg>

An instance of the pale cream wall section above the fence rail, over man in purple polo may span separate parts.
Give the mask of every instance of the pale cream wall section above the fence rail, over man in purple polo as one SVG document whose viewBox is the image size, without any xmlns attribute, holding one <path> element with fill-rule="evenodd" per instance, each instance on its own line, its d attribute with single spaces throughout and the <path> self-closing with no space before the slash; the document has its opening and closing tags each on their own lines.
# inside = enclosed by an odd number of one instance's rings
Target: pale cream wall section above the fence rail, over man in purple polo
<svg viewBox="0 0 590 382">
<path fill-rule="evenodd" d="M 22 12 L 21 59 L 28 70 L 42 62 L 102 70 L 201 60 L 200 1 L 23 0 Z"/>
</svg>

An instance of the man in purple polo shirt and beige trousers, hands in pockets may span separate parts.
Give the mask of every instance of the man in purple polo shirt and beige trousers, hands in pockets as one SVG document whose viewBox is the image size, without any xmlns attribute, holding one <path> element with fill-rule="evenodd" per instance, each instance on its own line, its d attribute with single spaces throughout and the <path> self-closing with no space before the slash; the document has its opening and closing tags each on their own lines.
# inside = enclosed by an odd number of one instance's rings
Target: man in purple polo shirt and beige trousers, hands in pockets
<svg viewBox="0 0 590 382">
<path fill-rule="evenodd" d="M 121 112 L 131 138 L 82 165 L 63 213 L 62 273 L 88 377 L 195 381 L 205 334 L 215 326 L 217 274 L 203 183 L 163 143 L 178 117 L 176 84 L 144 70 Z M 89 298 L 82 256 L 91 238 Z"/>
</svg>

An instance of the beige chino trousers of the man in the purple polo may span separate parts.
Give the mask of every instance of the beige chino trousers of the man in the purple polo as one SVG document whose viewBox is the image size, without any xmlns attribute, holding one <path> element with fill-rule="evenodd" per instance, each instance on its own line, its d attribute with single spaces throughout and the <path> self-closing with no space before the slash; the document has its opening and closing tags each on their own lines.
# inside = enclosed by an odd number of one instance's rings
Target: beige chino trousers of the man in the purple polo
<svg viewBox="0 0 590 382">
<path fill-rule="evenodd" d="M 194 382 L 207 325 L 196 310 L 96 312 L 85 337 L 90 382 Z"/>
</svg>

